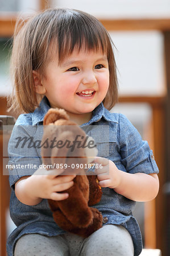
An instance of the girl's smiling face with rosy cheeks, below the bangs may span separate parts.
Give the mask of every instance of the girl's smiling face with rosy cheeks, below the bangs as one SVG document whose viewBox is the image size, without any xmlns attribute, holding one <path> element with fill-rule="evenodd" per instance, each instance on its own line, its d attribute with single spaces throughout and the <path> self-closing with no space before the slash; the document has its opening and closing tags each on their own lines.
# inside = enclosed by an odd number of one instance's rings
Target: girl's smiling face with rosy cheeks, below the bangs
<svg viewBox="0 0 170 256">
<path fill-rule="evenodd" d="M 107 56 L 74 50 L 60 65 L 54 58 L 41 82 L 52 108 L 63 108 L 68 114 L 91 113 L 109 88 Z"/>
</svg>

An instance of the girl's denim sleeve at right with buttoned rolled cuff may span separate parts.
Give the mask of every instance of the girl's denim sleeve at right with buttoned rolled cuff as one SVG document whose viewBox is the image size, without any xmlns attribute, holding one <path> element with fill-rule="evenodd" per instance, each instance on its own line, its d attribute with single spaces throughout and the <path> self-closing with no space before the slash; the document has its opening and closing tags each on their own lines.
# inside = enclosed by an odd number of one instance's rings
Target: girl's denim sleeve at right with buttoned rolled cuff
<svg viewBox="0 0 170 256">
<path fill-rule="evenodd" d="M 123 114 L 119 115 L 119 143 L 121 162 L 127 172 L 131 174 L 159 172 L 148 142 L 142 140 L 139 132 Z"/>
</svg>

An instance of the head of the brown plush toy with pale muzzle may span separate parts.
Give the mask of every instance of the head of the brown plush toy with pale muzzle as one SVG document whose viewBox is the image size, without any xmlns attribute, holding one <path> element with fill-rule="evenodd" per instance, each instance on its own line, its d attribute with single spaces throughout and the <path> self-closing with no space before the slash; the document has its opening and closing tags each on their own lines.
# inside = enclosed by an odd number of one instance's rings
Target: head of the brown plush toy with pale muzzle
<svg viewBox="0 0 170 256">
<path fill-rule="evenodd" d="M 72 122 L 64 109 L 49 109 L 43 125 L 43 139 L 48 137 L 50 141 L 56 140 L 52 147 L 42 148 L 42 155 L 45 156 L 43 162 L 67 163 L 71 166 L 71 163 L 88 164 L 96 158 L 98 150 L 93 138 Z"/>
</svg>

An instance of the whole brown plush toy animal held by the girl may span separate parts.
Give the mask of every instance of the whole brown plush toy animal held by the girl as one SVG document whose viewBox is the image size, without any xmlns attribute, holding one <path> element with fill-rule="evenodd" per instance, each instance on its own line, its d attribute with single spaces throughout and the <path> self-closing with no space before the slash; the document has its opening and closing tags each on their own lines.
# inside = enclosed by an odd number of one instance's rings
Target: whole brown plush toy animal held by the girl
<svg viewBox="0 0 170 256">
<path fill-rule="evenodd" d="M 101 200 L 102 190 L 97 176 L 94 173 L 86 175 L 85 172 L 88 170 L 87 164 L 97 155 L 92 147 L 94 141 L 87 140 L 88 136 L 69 119 L 64 109 L 49 109 L 43 125 L 44 145 L 47 139 L 53 143 L 51 146 L 42 147 L 43 163 L 46 166 L 57 164 L 58 167 L 64 167 L 62 175 L 76 174 L 73 186 L 64 191 L 69 193 L 68 199 L 48 200 L 53 218 L 62 229 L 88 237 L 102 226 L 101 212 L 91 207 Z M 95 155 L 90 159 L 88 155 L 94 151 Z"/>
</svg>

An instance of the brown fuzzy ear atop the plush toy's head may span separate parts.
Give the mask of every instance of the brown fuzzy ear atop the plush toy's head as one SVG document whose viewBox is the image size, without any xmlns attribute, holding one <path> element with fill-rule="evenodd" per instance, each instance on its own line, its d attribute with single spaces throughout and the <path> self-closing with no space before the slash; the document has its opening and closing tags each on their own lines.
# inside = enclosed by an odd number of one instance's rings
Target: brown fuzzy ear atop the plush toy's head
<svg viewBox="0 0 170 256">
<path fill-rule="evenodd" d="M 69 117 L 64 109 L 49 109 L 45 114 L 43 125 L 49 125 L 57 121 L 58 119 L 68 120 Z"/>
</svg>

